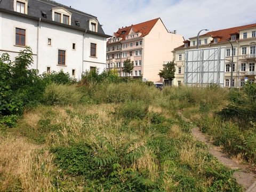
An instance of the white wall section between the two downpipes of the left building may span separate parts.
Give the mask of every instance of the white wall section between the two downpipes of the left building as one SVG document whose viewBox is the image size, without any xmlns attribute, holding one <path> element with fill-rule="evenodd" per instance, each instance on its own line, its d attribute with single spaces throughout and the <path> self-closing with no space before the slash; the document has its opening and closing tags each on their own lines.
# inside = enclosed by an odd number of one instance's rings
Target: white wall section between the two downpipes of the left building
<svg viewBox="0 0 256 192">
<path fill-rule="evenodd" d="M 48 45 L 48 38 L 51 45 Z M 73 50 L 75 43 L 75 50 Z M 39 73 L 46 72 L 47 67 L 51 71 L 63 70 L 72 74 L 75 69 L 75 76 L 79 78 L 82 74 L 83 63 L 83 33 L 74 29 L 67 29 L 61 26 L 54 26 L 50 23 L 41 22 L 39 27 L 39 51 L 38 70 Z M 66 65 L 58 65 L 58 50 L 66 51 Z"/>
</svg>

